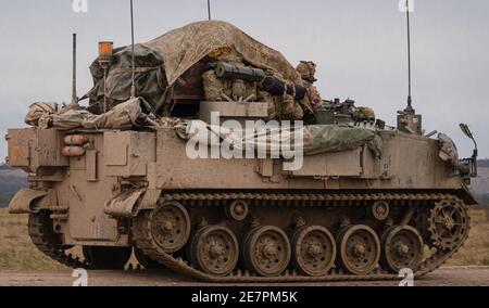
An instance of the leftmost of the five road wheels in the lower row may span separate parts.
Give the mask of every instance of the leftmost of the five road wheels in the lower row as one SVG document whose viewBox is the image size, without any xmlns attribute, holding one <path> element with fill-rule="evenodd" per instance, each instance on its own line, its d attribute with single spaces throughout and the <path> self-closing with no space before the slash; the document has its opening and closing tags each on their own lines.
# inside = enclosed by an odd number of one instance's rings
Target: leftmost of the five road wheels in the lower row
<svg viewBox="0 0 489 308">
<path fill-rule="evenodd" d="M 233 272 L 239 259 L 239 243 L 226 227 L 200 229 L 191 243 L 191 260 L 205 273 L 224 277 Z"/>
</svg>

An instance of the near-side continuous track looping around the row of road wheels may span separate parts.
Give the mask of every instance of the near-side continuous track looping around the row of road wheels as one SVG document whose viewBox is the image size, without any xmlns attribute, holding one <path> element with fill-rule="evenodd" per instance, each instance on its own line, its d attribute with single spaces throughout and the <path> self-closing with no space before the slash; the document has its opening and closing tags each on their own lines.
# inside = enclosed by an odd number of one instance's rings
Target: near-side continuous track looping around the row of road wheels
<svg viewBox="0 0 489 308">
<path fill-rule="evenodd" d="M 260 194 L 260 193 L 224 193 L 224 194 L 167 194 L 164 196 L 165 201 L 188 201 L 195 204 L 205 206 L 208 201 L 224 201 L 224 200 L 247 200 L 247 201 L 268 201 L 273 206 L 273 202 L 299 202 L 309 203 L 310 206 L 321 206 L 322 202 L 329 202 L 336 206 L 349 206 L 354 204 L 362 204 L 364 201 L 440 201 L 440 200 L 457 200 L 456 196 L 450 194 Z M 283 204 L 283 203 L 281 203 Z M 323 203 L 325 204 L 325 203 Z M 330 206 L 330 205 L 328 205 Z M 352 275 L 346 274 L 341 269 L 333 269 L 325 277 L 305 277 L 299 275 L 296 272 L 286 271 L 280 277 L 256 277 L 248 271 L 236 270 L 228 277 L 213 277 L 209 275 L 186 262 L 183 259 L 176 258 L 171 254 L 162 251 L 151 239 L 151 227 L 149 216 L 151 211 L 142 211 L 135 220 L 133 226 L 133 236 L 136 245 L 145 252 L 146 255 L 159 261 L 166 268 L 178 272 L 180 274 L 191 277 L 197 280 L 215 282 L 215 283 L 290 283 L 290 282 L 323 282 L 323 281 L 375 281 L 375 280 L 396 280 L 398 275 L 385 273 L 377 270 L 367 275 Z M 431 257 L 427 258 L 415 271 L 416 277 L 423 277 L 436 270 L 444 264 L 456 251 L 463 245 L 466 238 L 463 239 L 459 245 L 452 251 L 438 249 Z"/>
</svg>

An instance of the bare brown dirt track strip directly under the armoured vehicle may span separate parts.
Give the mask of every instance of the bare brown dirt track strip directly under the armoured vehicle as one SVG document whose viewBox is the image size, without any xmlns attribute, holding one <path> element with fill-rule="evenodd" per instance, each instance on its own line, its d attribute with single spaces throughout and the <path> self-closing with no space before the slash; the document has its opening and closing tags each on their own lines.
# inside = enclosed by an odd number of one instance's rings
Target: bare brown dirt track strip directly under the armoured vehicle
<svg viewBox="0 0 489 308">
<path fill-rule="evenodd" d="M 1 286 L 70 286 L 75 281 L 72 271 L 2 271 Z M 167 271 L 90 271 L 90 286 L 206 286 Z M 397 285 L 398 282 L 316 283 L 313 285 Z M 296 284 L 297 285 L 297 284 Z M 310 284 L 304 284 L 310 285 Z M 444 267 L 415 281 L 417 286 L 489 286 L 489 267 Z M 226 286 L 229 286 L 227 284 Z M 289 285 L 284 285 L 289 286 Z"/>
</svg>

